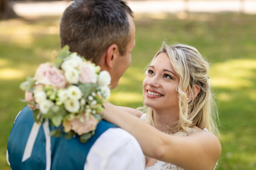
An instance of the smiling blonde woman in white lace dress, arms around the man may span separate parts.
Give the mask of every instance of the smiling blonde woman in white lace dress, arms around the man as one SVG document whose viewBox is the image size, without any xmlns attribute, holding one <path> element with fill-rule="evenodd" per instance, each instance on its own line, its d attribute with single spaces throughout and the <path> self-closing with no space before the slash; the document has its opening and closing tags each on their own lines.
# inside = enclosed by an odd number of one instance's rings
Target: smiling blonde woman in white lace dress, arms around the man
<svg viewBox="0 0 256 170">
<path fill-rule="evenodd" d="M 143 81 L 146 113 L 105 103 L 104 119 L 137 139 L 146 170 L 215 169 L 221 144 L 207 73 L 197 49 L 163 43 Z"/>
</svg>

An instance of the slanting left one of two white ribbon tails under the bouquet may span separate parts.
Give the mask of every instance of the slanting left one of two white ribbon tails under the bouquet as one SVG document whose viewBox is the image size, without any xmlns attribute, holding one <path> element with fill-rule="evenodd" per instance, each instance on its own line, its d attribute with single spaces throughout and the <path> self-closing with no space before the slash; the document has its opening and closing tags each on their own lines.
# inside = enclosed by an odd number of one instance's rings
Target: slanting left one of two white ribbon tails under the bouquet
<svg viewBox="0 0 256 170">
<path fill-rule="evenodd" d="M 32 149 L 34 147 L 35 144 L 35 139 L 38 135 L 38 131 L 40 129 L 41 123 L 34 123 L 31 129 L 31 132 L 29 134 L 29 139 L 26 143 L 26 147 L 23 153 L 23 157 L 22 157 L 22 162 L 26 161 L 27 159 L 30 158 L 31 153 L 32 153 Z"/>
</svg>

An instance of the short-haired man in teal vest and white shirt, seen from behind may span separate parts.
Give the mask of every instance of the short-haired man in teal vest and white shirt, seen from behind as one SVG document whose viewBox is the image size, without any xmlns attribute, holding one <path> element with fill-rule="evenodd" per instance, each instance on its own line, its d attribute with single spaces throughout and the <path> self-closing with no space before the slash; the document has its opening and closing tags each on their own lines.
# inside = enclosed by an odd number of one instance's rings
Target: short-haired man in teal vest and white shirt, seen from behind
<svg viewBox="0 0 256 170">
<path fill-rule="evenodd" d="M 111 74 L 111 88 L 131 63 L 135 45 L 132 11 L 122 0 L 75 0 L 61 18 L 61 46 L 69 45 Z M 29 159 L 22 161 L 33 125 L 26 106 L 17 116 L 8 140 L 7 159 L 12 170 L 143 170 L 145 160 L 136 139 L 108 122 L 99 122 L 95 135 L 85 144 L 79 138 L 50 137 L 46 151 L 43 127 Z"/>
</svg>

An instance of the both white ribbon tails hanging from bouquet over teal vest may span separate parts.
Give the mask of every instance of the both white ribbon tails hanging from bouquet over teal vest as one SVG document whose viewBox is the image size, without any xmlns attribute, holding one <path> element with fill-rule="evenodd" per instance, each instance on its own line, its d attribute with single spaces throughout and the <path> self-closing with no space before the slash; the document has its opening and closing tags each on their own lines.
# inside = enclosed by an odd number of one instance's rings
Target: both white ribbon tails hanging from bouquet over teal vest
<svg viewBox="0 0 256 170">
<path fill-rule="evenodd" d="M 29 134 L 29 139 L 27 140 L 26 147 L 23 153 L 22 162 L 30 158 L 32 149 L 35 144 L 35 139 L 38 136 L 38 131 L 40 129 L 41 123 L 34 122 L 31 132 Z M 49 136 L 49 121 L 48 119 L 43 124 L 44 135 L 46 139 L 46 170 L 51 169 L 51 137 Z"/>
</svg>

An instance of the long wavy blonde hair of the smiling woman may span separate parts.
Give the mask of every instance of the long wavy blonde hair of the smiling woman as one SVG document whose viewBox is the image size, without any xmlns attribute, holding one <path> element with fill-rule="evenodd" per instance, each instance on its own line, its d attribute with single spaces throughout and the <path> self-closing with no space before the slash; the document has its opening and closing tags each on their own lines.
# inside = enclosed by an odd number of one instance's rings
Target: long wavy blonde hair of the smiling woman
<svg viewBox="0 0 256 170">
<path fill-rule="evenodd" d="M 175 44 L 166 45 L 163 42 L 162 48 L 157 52 L 152 61 L 161 53 L 166 53 L 170 58 L 172 67 L 179 77 L 177 88 L 179 103 L 179 120 L 170 125 L 168 133 L 177 136 L 187 136 L 195 132 L 194 126 L 200 129 L 207 128 L 209 132 L 218 134 L 216 120 L 218 112 L 211 93 L 208 69 L 209 64 L 204 60 L 198 50 L 189 45 Z M 151 62 L 152 62 L 151 61 Z M 187 101 L 187 93 L 194 94 L 194 86 L 198 85 L 200 91 L 191 102 Z M 146 122 L 154 125 L 153 109 L 147 108 Z"/>
</svg>

